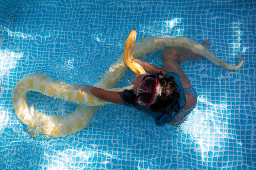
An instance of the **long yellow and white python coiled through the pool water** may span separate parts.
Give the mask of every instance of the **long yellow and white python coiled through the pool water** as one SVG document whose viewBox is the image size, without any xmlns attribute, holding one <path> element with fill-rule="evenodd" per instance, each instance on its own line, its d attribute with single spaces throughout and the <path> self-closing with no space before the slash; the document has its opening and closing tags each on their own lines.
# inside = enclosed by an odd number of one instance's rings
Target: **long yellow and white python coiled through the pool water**
<svg viewBox="0 0 256 170">
<path fill-rule="evenodd" d="M 136 31 L 132 30 L 124 44 L 123 59 L 120 57 L 119 60 L 113 63 L 108 71 L 101 77 L 100 81 L 95 83 L 95 87 L 116 91 L 132 89 L 133 85 L 119 89 L 112 88 L 120 81 L 127 67 L 132 70 L 136 77 L 139 74 L 146 73 L 138 63 L 131 63 L 133 57 L 138 58 L 149 52 L 163 50 L 165 47 L 180 46 L 188 48 L 194 53 L 204 56 L 215 65 L 230 70 L 239 69 L 244 62 L 242 57 L 239 56 L 241 61 L 237 65 L 229 65 L 218 59 L 202 44 L 185 37 L 144 37 L 141 38 L 140 41 L 136 43 L 136 47 L 134 47 L 135 40 Z M 45 115 L 42 112 L 36 112 L 33 105 L 28 107 L 26 97 L 28 91 L 41 92 L 46 96 L 72 101 L 78 105 L 74 112 L 66 114 L 64 117 Z M 32 133 L 33 137 L 36 137 L 36 134 L 45 135 L 46 137 L 65 137 L 70 133 L 76 133 L 86 127 L 92 114 L 99 109 L 99 106 L 110 104 L 110 102 L 100 100 L 87 92 L 77 90 L 74 85 L 59 82 L 45 76 L 43 73 L 33 73 L 22 78 L 14 87 L 12 103 L 16 115 L 21 122 L 28 125 L 28 131 Z"/>
</svg>

